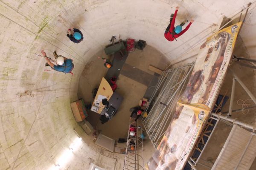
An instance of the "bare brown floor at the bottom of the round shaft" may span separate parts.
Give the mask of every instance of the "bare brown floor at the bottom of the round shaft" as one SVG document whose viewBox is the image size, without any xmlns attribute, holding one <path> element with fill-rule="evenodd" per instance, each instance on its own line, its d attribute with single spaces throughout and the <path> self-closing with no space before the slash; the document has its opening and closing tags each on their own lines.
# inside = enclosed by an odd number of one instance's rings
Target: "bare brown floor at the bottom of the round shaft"
<svg viewBox="0 0 256 170">
<path fill-rule="evenodd" d="M 102 51 L 97 53 L 99 56 L 102 54 Z M 78 96 L 86 103 L 93 102 L 91 91 L 99 86 L 102 77 L 107 73 L 107 68 L 103 66 L 102 60 L 97 59 L 97 55 L 88 62 L 79 79 Z M 143 82 L 148 81 L 148 75 L 151 75 L 150 78 L 154 77 L 154 72 L 148 70 L 148 65 L 154 65 L 163 70 L 169 65 L 165 57 L 161 56 L 163 55 L 159 51 L 149 45 L 146 45 L 143 51 L 136 49 L 128 54 L 125 62 L 127 69 L 125 72 L 121 70 L 116 82 L 118 85 L 116 92 L 124 97 L 123 102 L 116 115 L 103 125 L 99 122 L 98 113 L 88 111 L 87 120 L 94 128 L 115 140 L 127 137 L 131 114 L 129 109 L 137 106 L 139 100 L 143 98 L 148 88 Z"/>
</svg>

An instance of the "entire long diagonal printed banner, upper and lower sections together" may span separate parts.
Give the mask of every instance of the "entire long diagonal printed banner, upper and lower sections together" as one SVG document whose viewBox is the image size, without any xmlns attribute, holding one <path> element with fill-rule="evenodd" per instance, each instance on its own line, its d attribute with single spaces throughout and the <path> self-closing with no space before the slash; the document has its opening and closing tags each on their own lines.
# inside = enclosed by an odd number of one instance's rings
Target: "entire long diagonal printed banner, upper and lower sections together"
<svg viewBox="0 0 256 170">
<path fill-rule="evenodd" d="M 146 164 L 147 170 L 183 170 L 214 107 L 241 24 L 216 32 L 201 45 L 172 122 Z"/>
</svg>

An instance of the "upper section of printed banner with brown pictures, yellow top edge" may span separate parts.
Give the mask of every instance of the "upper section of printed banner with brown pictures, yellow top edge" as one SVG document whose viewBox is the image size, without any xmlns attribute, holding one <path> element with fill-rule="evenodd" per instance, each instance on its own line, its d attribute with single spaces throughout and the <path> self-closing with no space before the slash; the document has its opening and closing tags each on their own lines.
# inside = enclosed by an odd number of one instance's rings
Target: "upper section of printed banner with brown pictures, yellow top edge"
<svg viewBox="0 0 256 170">
<path fill-rule="evenodd" d="M 184 91 L 183 103 L 202 103 L 210 109 L 227 71 L 242 22 L 218 31 L 201 45 L 192 75 Z"/>
</svg>

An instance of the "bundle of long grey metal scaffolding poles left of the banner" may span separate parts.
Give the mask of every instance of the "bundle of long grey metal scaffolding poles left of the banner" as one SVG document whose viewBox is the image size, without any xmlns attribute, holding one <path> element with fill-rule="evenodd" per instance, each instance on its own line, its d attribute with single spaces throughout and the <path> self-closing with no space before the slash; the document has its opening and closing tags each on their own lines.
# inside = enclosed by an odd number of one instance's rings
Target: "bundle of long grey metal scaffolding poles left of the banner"
<svg viewBox="0 0 256 170">
<path fill-rule="evenodd" d="M 148 116 L 143 118 L 143 125 L 155 148 L 171 122 L 176 101 L 184 90 L 193 67 L 194 62 L 164 71 L 151 95 L 149 106 L 145 109 Z"/>
</svg>

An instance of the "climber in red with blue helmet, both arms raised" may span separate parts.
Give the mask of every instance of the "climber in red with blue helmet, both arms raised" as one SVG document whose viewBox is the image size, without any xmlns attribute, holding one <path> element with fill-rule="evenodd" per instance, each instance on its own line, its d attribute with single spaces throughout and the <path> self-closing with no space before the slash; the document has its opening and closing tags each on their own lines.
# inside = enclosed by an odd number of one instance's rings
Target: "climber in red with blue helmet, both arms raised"
<svg viewBox="0 0 256 170">
<path fill-rule="evenodd" d="M 166 28 L 166 31 L 164 32 L 164 37 L 168 40 L 168 41 L 173 41 L 176 40 L 177 37 L 180 37 L 182 34 L 184 34 L 189 27 L 191 26 L 191 24 L 194 22 L 194 20 L 191 20 L 189 25 L 186 26 L 185 29 L 182 30 L 182 26 L 185 25 L 185 22 L 181 23 L 180 25 L 174 27 L 175 24 L 175 18 L 177 16 L 177 11 L 178 11 L 179 7 L 176 7 L 175 13 L 171 14 L 171 18 L 170 18 L 170 23 L 169 26 Z M 176 40 L 177 41 L 177 40 Z"/>
</svg>

